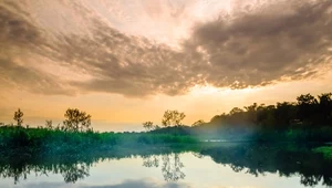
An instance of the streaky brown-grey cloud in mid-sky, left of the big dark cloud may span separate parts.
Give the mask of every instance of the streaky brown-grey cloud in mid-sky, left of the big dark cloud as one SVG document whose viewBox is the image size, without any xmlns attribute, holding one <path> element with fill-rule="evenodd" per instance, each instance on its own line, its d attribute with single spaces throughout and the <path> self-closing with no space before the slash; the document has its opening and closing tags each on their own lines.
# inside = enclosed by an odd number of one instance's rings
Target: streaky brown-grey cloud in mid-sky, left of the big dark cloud
<svg viewBox="0 0 332 188">
<path fill-rule="evenodd" d="M 71 85 L 84 91 L 143 96 L 183 94 L 198 82 L 189 69 L 190 59 L 186 60 L 183 53 L 145 38 L 125 35 L 98 20 L 92 22 L 92 38 L 64 36 L 52 45 L 56 53 L 48 54 L 93 76 Z"/>
</svg>

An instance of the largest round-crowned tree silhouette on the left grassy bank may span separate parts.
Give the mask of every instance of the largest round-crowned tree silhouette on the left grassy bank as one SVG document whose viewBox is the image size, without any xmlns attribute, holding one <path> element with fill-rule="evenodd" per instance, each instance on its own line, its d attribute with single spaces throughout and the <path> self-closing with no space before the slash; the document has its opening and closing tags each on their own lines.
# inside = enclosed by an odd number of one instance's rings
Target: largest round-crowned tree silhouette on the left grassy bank
<svg viewBox="0 0 332 188">
<path fill-rule="evenodd" d="M 91 130 L 91 115 L 85 112 L 81 112 L 77 108 L 69 108 L 66 109 L 63 121 L 64 129 L 70 132 L 84 132 Z"/>
</svg>

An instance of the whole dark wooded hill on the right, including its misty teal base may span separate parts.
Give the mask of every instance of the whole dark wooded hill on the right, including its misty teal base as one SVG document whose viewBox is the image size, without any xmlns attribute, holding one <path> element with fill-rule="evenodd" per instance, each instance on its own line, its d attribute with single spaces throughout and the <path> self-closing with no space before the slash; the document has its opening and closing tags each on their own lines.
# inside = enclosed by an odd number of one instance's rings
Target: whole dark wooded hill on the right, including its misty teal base
<svg viewBox="0 0 332 188">
<path fill-rule="evenodd" d="M 303 94 L 295 102 L 253 103 L 195 126 L 196 134 L 255 140 L 331 142 L 332 93 Z"/>
</svg>

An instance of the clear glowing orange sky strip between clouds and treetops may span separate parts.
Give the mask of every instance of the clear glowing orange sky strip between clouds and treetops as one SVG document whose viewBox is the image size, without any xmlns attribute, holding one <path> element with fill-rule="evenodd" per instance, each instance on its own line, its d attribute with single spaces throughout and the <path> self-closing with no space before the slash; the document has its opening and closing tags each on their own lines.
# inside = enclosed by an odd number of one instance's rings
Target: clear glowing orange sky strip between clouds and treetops
<svg viewBox="0 0 332 188">
<path fill-rule="evenodd" d="M 295 101 L 300 94 L 318 95 L 332 91 L 332 74 L 315 80 L 288 82 L 266 87 L 229 90 L 197 87 L 181 96 L 156 95 L 146 98 L 128 98 L 118 94 L 91 93 L 80 96 L 40 95 L 10 91 L 2 95 L 0 119 L 13 123 L 18 107 L 25 113 L 24 123 L 43 125 L 45 119 L 55 124 L 63 121 L 68 107 L 77 107 L 92 115 L 92 123 L 98 130 L 141 130 L 141 124 L 153 121 L 160 125 L 166 109 L 178 109 L 187 115 L 184 123 L 191 125 L 197 119 L 208 122 L 212 116 L 243 107 L 255 102 L 276 104 Z"/>
</svg>

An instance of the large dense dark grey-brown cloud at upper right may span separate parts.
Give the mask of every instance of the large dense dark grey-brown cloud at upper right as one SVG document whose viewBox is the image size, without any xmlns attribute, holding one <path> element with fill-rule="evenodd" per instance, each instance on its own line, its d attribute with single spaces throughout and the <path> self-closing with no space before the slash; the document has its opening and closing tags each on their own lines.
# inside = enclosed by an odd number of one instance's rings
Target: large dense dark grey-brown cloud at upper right
<svg viewBox="0 0 332 188">
<path fill-rule="evenodd" d="M 197 25 L 191 45 L 209 55 L 206 81 L 247 87 L 313 75 L 331 56 L 332 1 L 280 1 Z"/>
</svg>

